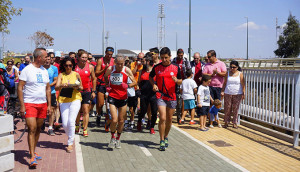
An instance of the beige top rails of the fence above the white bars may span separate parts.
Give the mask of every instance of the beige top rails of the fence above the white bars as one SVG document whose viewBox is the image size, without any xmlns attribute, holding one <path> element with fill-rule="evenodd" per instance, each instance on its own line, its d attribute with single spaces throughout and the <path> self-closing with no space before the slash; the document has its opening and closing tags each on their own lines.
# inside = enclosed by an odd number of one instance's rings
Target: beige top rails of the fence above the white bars
<svg viewBox="0 0 300 172">
<path fill-rule="evenodd" d="M 277 58 L 277 59 L 257 59 L 257 60 L 237 60 L 242 69 L 284 69 L 299 70 L 300 58 Z M 225 61 L 229 67 L 230 61 Z"/>
</svg>

